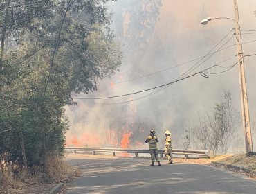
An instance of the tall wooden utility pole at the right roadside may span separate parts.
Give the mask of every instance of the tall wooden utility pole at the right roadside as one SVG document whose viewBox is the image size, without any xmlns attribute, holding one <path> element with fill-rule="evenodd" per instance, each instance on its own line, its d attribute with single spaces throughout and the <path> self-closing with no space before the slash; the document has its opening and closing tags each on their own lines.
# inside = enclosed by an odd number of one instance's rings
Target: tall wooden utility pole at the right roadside
<svg viewBox="0 0 256 194">
<path fill-rule="evenodd" d="M 241 94 L 241 115 L 243 119 L 243 128 L 244 128 L 244 144 L 245 144 L 246 154 L 247 154 L 247 153 L 253 152 L 253 141 L 252 141 L 252 135 L 250 130 L 250 114 L 248 109 L 246 74 L 244 72 L 244 57 L 243 57 L 243 48 L 241 44 L 241 31 L 240 31 L 240 24 L 239 24 L 237 0 L 234 0 L 234 9 L 235 9 L 235 34 L 236 34 L 236 41 L 237 41 L 239 85 L 240 85 L 240 94 Z"/>
</svg>

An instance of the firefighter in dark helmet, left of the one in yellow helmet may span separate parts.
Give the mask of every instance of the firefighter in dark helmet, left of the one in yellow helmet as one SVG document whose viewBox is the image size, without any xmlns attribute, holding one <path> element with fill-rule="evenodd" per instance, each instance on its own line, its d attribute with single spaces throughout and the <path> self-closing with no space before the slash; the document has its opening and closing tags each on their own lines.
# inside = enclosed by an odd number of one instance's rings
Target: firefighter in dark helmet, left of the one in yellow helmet
<svg viewBox="0 0 256 194">
<path fill-rule="evenodd" d="M 150 166 L 155 166 L 155 159 L 158 163 L 158 166 L 161 166 L 159 157 L 158 157 L 158 149 L 156 145 L 156 143 L 159 140 L 155 134 L 156 134 L 156 131 L 154 129 L 150 130 L 150 134 L 149 136 L 147 136 L 145 143 L 149 143 L 149 152 L 150 152 L 151 161 L 152 161 L 152 164 Z"/>
</svg>

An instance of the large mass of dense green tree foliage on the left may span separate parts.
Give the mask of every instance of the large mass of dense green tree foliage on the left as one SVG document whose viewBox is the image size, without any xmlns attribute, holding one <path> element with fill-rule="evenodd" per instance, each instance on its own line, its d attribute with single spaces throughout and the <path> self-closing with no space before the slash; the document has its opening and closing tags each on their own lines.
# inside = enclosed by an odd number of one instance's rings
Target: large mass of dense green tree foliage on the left
<svg viewBox="0 0 256 194">
<path fill-rule="evenodd" d="M 64 156 L 71 94 L 118 70 L 106 2 L 0 3 L 0 155 L 10 164 L 46 173 L 48 156 Z"/>
</svg>

